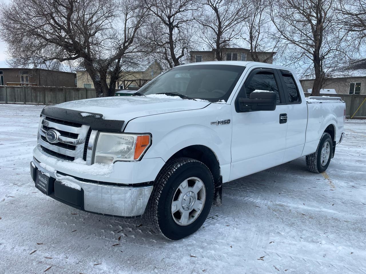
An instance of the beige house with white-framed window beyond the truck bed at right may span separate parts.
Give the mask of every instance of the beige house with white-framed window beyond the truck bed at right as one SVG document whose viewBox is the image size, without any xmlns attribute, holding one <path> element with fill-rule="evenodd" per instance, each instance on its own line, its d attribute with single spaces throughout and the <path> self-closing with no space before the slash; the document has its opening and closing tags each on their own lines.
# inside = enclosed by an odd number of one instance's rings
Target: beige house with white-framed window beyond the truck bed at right
<svg viewBox="0 0 366 274">
<path fill-rule="evenodd" d="M 300 80 L 302 89 L 305 93 L 311 93 L 314 79 Z M 337 77 L 325 80 L 322 86 L 326 93 L 327 89 L 334 89 L 337 94 L 366 94 L 366 76 L 360 77 Z"/>
</svg>

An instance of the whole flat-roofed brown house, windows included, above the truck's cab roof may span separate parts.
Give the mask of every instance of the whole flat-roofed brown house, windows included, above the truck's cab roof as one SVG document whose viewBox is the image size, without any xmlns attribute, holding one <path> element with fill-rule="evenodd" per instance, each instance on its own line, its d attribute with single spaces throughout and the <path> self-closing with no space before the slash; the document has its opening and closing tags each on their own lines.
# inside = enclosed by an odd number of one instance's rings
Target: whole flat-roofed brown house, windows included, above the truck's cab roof
<svg viewBox="0 0 366 274">
<path fill-rule="evenodd" d="M 204 62 L 204 61 L 216 61 L 215 50 L 201 50 L 191 51 L 190 62 Z M 257 52 L 261 62 L 272 64 L 273 56 L 276 52 Z M 224 47 L 223 48 L 223 60 L 224 61 L 253 61 L 250 56 L 249 49 L 243 49 L 242 47 Z"/>
</svg>

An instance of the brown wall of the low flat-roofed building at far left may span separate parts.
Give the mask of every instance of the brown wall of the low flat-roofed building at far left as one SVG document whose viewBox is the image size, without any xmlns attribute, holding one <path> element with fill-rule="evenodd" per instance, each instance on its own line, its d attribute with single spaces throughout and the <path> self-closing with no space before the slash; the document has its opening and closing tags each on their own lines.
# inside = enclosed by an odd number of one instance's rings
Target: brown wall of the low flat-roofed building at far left
<svg viewBox="0 0 366 274">
<path fill-rule="evenodd" d="M 0 71 L 3 71 L 5 85 L 21 83 L 20 71 L 28 71 L 29 84 L 45 87 L 76 87 L 76 73 L 27 68 L 0 68 Z"/>
</svg>

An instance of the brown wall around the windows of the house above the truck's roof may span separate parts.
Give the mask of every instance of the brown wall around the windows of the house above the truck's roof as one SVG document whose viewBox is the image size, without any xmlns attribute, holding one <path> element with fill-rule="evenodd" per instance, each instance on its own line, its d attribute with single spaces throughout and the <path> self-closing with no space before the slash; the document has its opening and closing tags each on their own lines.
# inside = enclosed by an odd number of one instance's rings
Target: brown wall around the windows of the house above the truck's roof
<svg viewBox="0 0 366 274">
<path fill-rule="evenodd" d="M 227 53 L 238 53 L 238 61 L 241 61 L 241 54 L 246 54 L 246 61 L 253 61 L 249 50 L 246 49 L 238 49 L 238 48 L 225 48 L 223 50 L 223 60 L 226 60 L 226 54 Z M 202 62 L 205 61 L 216 61 L 215 53 L 214 51 L 192 51 L 191 52 L 191 62 L 195 62 L 195 56 L 196 55 L 202 55 Z M 261 62 L 263 62 L 266 58 L 268 58 L 267 63 L 272 64 L 273 62 L 273 54 L 269 52 L 260 52 L 258 53 L 259 58 L 261 59 Z"/>
</svg>

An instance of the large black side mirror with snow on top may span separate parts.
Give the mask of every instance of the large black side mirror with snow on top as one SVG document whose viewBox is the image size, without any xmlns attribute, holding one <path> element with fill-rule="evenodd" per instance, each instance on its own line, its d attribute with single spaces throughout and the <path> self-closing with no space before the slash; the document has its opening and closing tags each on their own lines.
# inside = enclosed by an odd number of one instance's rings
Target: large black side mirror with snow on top
<svg viewBox="0 0 366 274">
<path fill-rule="evenodd" d="M 248 98 L 239 98 L 239 110 L 259 111 L 259 110 L 275 110 L 277 94 L 273 91 L 255 90 L 251 92 Z"/>
</svg>

